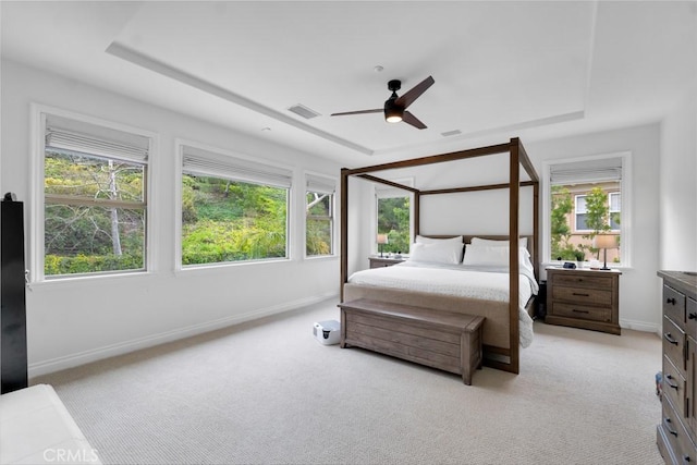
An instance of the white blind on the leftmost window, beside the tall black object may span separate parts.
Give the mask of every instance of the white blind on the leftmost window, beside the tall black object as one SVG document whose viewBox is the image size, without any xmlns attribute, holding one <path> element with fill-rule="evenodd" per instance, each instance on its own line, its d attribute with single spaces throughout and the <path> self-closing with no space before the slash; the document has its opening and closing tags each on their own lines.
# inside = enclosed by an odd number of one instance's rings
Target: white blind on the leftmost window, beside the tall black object
<svg viewBox="0 0 697 465">
<path fill-rule="evenodd" d="M 144 162 L 148 159 L 150 139 L 138 134 L 47 114 L 46 148 Z"/>
</svg>

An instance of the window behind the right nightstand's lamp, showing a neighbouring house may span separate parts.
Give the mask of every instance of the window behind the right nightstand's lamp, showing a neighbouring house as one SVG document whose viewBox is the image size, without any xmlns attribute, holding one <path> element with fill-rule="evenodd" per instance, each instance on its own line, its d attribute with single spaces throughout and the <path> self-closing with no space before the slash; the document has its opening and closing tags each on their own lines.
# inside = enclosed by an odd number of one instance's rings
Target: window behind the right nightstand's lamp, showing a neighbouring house
<svg viewBox="0 0 697 465">
<path fill-rule="evenodd" d="M 597 259 L 600 250 L 592 247 L 592 238 L 602 233 L 616 235 L 620 244 L 608 249 L 608 261 L 628 266 L 627 213 L 622 205 L 628 192 L 627 160 L 625 154 L 546 164 L 548 259 Z"/>
</svg>

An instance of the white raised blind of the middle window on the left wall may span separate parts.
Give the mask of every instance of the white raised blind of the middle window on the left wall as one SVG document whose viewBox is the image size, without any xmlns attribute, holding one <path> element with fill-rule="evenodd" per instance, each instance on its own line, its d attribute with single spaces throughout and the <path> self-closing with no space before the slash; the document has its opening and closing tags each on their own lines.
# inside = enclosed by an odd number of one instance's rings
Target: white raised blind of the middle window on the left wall
<svg viewBox="0 0 697 465">
<path fill-rule="evenodd" d="M 290 188 L 293 172 L 252 160 L 216 154 L 197 147 L 183 146 L 183 171 L 231 181 Z"/>
</svg>

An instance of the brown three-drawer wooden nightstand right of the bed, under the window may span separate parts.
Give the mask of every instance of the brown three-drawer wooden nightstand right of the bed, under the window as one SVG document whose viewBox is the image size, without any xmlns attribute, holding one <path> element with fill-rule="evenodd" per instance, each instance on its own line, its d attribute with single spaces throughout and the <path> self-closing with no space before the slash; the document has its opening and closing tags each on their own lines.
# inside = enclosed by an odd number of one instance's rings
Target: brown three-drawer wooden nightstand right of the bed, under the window
<svg viewBox="0 0 697 465">
<path fill-rule="evenodd" d="M 617 270 L 547 268 L 545 322 L 620 334 Z"/>
</svg>

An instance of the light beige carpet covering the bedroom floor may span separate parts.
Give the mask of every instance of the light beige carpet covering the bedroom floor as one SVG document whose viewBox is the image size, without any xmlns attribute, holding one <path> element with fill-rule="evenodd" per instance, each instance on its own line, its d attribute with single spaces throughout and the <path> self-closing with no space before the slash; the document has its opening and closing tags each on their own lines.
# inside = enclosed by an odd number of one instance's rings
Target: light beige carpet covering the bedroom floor
<svg viewBox="0 0 697 465">
<path fill-rule="evenodd" d="M 661 464 L 661 340 L 537 321 L 473 386 L 325 346 L 334 301 L 51 374 L 107 464 Z"/>
</svg>

